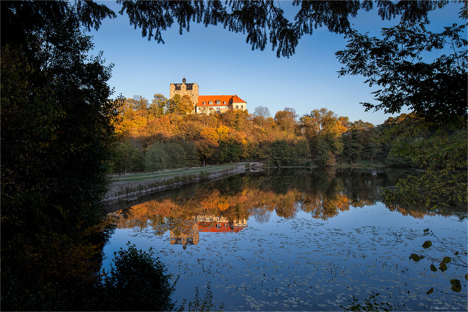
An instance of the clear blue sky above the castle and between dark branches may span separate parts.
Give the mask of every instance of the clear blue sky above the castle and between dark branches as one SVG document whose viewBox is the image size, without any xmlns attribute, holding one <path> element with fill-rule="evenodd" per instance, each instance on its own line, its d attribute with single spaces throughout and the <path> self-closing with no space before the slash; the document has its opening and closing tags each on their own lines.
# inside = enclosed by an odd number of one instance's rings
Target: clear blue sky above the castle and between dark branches
<svg viewBox="0 0 468 312">
<path fill-rule="evenodd" d="M 336 73 L 342 65 L 335 52 L 343 50 L 343 35 L 327 29 L 315 29 L 312 36 L 303 36 L 290 58 L 276 58 L 271 45 L 265 51 L 252 51 L 245 43 L 246 35 L 231 33 L 222 26 L 191 23 L 190 32 L 178 33 L 178 25 L 162 33 L 165 44 L 148 41 L 140 29 L 130 26 L 128 17 L 119 15 L 120 6 L 115 1 L 102 1 L 113 9 L 117 18 L 102 22 L 98 31 L 91 31 L 95 49 L 91 54 L 103 51 L 106 62 L 113 63 L 109 85 L 116 94 L 125 97 L 141 95 L 151 101 L 155 93 L 169 97 L 171 82 L 196 82 L 200 95 L 237 94 L 247 102 L 250 112 L 258 105 L 270 109 L 271 115 L 285 107 L 308 114 L 313 109 L 326 107 L 350 121 L 363 120 L 374 125 L 383 123 L 389 114 L 364 112 L 359 102 L 373 102 L 370 94 L 375 88 L 364 84 L 362 76 L 339 77 Z M 288 17 L 297 7 L 290 1 L 278 1 Z M 439 32 L 443 26 L 458 22 L 461 5 L 449 4 L 429 15 L 428 30 Z M 379 36 L 382 27 L 399 22 L 382 21 L 377 10 L 359 11 L 351 19 L 354 28 L 361 33 Z M 429 61 L 440 56 L 440 51 Z"/>
</svg>

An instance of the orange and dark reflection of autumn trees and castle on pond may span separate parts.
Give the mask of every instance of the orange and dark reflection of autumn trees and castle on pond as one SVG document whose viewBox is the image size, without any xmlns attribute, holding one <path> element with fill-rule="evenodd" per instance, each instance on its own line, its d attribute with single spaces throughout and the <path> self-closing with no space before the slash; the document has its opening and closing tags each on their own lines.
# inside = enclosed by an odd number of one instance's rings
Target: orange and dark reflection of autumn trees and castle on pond
<svg viewBox="0 0 468 312">
<path fill-rule="evenodd" d="M 117 228 L 141 231 L 152 227 L 157 235 L 170 231 L 171 244 L 181 244 L 185 249 L 197 244 L 198 232 L 238 232 L 247 226 L 250 217 L 259 223 L 269 222 L 273 211 L 285 219 L 304 211 L 313 218 L 327 220 L 350 207 L 373 205 L 380 201 L 381 188 L 395 185 L 404 174 L 407 172 L 400 169 L 344 168 L 246 173 L 203 187 L 178 189 L 110 216 Z M 431 211 L 424 206 L 387 208 L 414 218 L 456 211 L 454 207 L 445 211 Z"/>
</svg>

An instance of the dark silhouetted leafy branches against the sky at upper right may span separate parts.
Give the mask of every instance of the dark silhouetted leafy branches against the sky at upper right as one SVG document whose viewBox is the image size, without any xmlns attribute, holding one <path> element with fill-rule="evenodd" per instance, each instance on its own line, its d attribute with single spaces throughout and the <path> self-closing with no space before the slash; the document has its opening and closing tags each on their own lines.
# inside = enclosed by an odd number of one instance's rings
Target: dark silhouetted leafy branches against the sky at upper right
<svg viewBox="0 0 468 312">
<path fill-rule="evenodd" d="M 466 6 L 466 2 L 465 2 Z M 461 16 L 466 19 L 466 15 Z M 459 126 L 467 122 L 467 40 L 461 35 L 466 24 L 445 27 L 441 33 L 427 31 L 424 23 L 400 23 L 382 29 L 384 39 L 351 31 L 346 50 L 336 52 L 345 65 L 340 75 L 363 75 L 380 104 L 361 103 L 385 113 L 399 113 L 408 105 L 425 123 Z M 423 53 L 449 46 L 452 54 L 432 63 Z M 357 58 L 356 56 L 359 55 Z"/>
</svg>

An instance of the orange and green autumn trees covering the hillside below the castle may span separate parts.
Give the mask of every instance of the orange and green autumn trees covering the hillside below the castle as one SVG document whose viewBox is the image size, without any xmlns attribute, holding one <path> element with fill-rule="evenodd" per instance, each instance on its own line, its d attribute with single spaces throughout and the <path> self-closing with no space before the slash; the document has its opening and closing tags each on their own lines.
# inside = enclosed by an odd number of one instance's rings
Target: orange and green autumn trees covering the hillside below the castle
<svg viewBox="0 0 468 312">
<path fill-rule="evenodd" d="M 299 116 L 285 108 L 271 116 L 268 108 L 191 114 L 183 97 L 154 94 L 125 99 L 113 120 L 117 134 L 114 172 L 157 171 L 201 164 L 265 160 L 276 166 L 353 164 L 363 155 L 388 155 L 388 165 L 409 165 L 390 152 L 381 136 L 400 120 L 390 117 L 374 126 L 350 122 L 326 108 Z M 389 153 L 390 152 L 390 153 Z"/>
</svg>

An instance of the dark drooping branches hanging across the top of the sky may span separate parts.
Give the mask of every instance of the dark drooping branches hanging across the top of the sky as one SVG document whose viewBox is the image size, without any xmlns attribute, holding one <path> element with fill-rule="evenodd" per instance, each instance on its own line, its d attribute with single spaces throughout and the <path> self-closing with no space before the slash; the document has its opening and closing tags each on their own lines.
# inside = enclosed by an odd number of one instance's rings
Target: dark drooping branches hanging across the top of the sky
<svg viewBox="0 0 468 312">
<path fill-rule="evenodd" d="M 162 31 L 170 28 L 174 20 L 183 29 L 190 31 L 190 22 L 208 25 L 223 25 L 225 29 L 247 34 L 246 43 L 252 50 L 264 50 L 268 43 L 276 50 L 277 57 L 295 53 L 301 36 L 312 35 L 317 27 L 327 27 L 330 32 L 344 34 L 351 30 L 349 16 L 356 17 L 359 10 L 370 11 L 373 1 L 300 1 L 294 22 L 284 16 L 281 3 L 265 1 L 130 1 L 122 4 L 121 15 L 129 16 L 130 24 L 141 29 L 141 35 L 164 43 Z M 437 1 L 376 1 L 378 15 L 384 19 L 401 15 L 402 22 L 427 21 L 427 13 L 437 7 Z M 278 4 L 278 6 L 277 6 Z M 267 36 L 268 34 L 268 36 Z"/>
</svg>

